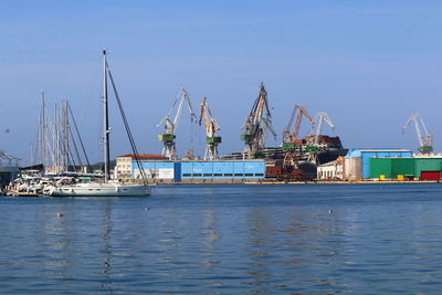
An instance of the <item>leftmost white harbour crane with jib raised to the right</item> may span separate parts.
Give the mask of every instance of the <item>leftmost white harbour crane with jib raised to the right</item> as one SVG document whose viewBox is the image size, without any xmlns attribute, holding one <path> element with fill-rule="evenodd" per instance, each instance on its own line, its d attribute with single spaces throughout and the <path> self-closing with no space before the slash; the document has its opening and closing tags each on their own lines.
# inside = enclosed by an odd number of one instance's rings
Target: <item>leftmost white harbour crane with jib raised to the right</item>
<svg viewBox="0 0 442 295">
<path fill-rule="evenodd" d="M 179 103 L 178 103 L 179 102 Z M 175 115 L 173 120 L 170 118 L 171 113 L 173 112 L 176 105 L 178 104 L 177 114 Z M 175 144 L 176 131 L 178 128 L 178 123 L 182 113 L 183 105 L 187 104 L 189 113 L 190 113 L 190 120 L 197 119 L 197 115 L 193 113 L 192 105 L 190 104 L 189 94 L 185 88 L 180 88 L 178 96 L 173 99 L 172 106 L 169 109 L 169 113 L 157 125 L 157 127 L 164 125 L 165 129 L 164 133 L 158 135 L 158 140 L 162 141 L 162 156 L 168 157 L 170 160 L 177 159 L 177 148 Z"/>
</svg>

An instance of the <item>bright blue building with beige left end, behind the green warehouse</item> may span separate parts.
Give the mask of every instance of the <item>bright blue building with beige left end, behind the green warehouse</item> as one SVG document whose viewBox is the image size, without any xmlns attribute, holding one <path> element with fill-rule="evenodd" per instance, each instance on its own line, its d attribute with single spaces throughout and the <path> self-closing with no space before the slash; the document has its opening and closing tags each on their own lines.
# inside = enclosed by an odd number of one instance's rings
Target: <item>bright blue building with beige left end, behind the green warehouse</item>
<svg viewBox="0 0 442 295">
<path fill-rule="evenodd" d="M 411 158 L 412 151 L 399 148 L 351 148 L 345 157 L 345 178 L 370 178 L 370 158 Z"/>
</svg>

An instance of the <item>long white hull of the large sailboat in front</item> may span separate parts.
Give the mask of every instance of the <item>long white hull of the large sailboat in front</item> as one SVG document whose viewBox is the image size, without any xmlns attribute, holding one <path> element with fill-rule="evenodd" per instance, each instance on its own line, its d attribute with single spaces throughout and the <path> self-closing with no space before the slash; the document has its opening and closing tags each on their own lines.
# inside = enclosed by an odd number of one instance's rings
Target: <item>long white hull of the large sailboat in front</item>
<svg viewBox="0 0 442 295">
<path fill-rule="evenodd" d="M 52 187 L 51 197 L 146 197 L 150 196 L 151 186 L 122 183 L 78 183 Z"/>
</svg>

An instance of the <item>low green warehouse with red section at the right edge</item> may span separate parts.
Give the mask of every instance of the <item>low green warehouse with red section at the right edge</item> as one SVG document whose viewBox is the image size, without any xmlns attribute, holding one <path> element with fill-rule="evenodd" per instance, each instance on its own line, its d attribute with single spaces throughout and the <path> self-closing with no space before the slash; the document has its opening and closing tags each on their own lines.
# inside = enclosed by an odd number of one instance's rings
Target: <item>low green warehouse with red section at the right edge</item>
<svg viewBox="0 0 442 295">
<path fill-rule="evenodd" d="M 371 158 L 370 178 L 379 180 L 440 180 L 442 156 Z"/>
</svg>

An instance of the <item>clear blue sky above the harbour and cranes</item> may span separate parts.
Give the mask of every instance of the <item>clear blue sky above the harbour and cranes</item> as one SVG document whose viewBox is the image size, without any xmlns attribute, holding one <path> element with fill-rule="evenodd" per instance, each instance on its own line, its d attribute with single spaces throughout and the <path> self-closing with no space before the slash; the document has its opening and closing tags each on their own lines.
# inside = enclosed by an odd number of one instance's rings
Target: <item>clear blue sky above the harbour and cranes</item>
<svg viewBox="0 0 442 295">
<path fill-rule="evenodd" d="M 221 127 L 220 152 L 241 151 L 241 126 L 264 82 L 277 146 L 294 105 L 326 112 L 345 147 L 417 150 L 420 112 L 442 151 L 442 2 L 1 1 L 0 150 L 31 160 L 40 93 L 69 99 L 93 160 L 101 159 L 101 52 L 108 62 L 138 150 L 160 154 L 156 125 L 185 87 L 199 114 L 207 97 Z M 113 99 L 113 98 L 110 98 Z M 112 157 L 130 152 L 110 105 Z M 7 131 L 7 129 L 9 131 Z M 308 131 L 303 123 L 301 133 Z M 180 157 L 202 156 L 204 131 L 185 110 Z"/>
</svg>

